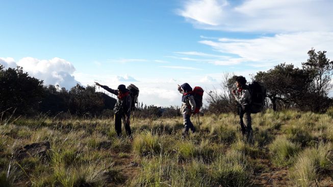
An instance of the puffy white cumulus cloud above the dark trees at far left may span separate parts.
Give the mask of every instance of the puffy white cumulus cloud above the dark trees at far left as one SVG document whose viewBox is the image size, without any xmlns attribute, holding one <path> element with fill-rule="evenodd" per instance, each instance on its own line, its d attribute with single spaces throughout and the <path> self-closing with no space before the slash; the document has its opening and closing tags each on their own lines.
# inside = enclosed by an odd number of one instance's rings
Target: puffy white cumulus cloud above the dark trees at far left
<svg viewBox="0 0 333 187">
<path fill-rule="evenodd" d="M 60 85 L 67 89 L 79 83 L 72 75 L 75 72 L 73 64 L 61 59 L 53 58 L 50 60 L 39 60 L 32 57 L 25 57 L 15 62 L 13 58 L 0 58 L 0 63 L 5 67 L 23 67 L 23 71 L 28 72 L 32 77 L 44 81 L 45 85 Z"/>
</svg>

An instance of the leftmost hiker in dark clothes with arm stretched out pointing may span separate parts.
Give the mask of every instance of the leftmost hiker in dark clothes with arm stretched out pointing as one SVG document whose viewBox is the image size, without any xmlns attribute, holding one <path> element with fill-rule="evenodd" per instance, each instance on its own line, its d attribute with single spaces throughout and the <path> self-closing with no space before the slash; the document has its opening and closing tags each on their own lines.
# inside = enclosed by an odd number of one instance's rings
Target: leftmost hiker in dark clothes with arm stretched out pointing
<svg viewBox="0 0 333 187">
<path fill-rule="evenodd" d="M 120 137 L 121 135 L 121 119 L 122 119 L 123 123 L 125 124 L 125 130 L 127 135 L 132 137 L 132 131 L 130 127 L 132 100 L 129 90 L 123 84 L 120 84 L 117 89 L 111 89 L 108 86 L 100 85 L 98 82 L 95 83 L 97 86 L 100 86 L 117 96 L 117 103 L 113 109 L 115 113 L 114 123 L 117 136 Z"/>
</svg>

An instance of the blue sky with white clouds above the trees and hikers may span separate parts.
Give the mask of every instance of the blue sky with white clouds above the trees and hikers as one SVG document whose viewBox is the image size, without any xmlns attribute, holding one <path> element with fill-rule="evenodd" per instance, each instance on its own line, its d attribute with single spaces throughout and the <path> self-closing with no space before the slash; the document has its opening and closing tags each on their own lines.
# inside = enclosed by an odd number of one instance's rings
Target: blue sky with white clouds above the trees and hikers
<svg viewBox="0 0 333 187">
<path fill-rule="evenodd" d="M 333 59 L 332 8 L 330 0 L 0 0 L 0 64 L 66 89 L 133 83 L 139 102 L 175 106 L 177 84 L 220 90 L 225 73 L 250 81 L 279 63 L 301 66 L 312 48 Z"/>
</svg>

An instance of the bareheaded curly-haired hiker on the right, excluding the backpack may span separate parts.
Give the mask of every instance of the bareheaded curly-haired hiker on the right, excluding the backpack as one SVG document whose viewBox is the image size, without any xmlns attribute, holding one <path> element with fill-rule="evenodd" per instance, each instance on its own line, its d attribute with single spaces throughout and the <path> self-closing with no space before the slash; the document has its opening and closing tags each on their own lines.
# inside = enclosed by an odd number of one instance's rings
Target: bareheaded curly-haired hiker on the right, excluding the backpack
<svg viewBox="0 0 333 187">
<path fill-rule="evenodd" d="M 252 135 L 250 102 L 251 95 L 249 87 L 246 85 L 246 79 L 243 76 L 236 77 L 237 90 L 233 90 L 233 95 L 238 103 L 238 114 L 243 135 L 250 137 Z M 245 119 L 245 124 L 243 122 Z"/>
</svg>

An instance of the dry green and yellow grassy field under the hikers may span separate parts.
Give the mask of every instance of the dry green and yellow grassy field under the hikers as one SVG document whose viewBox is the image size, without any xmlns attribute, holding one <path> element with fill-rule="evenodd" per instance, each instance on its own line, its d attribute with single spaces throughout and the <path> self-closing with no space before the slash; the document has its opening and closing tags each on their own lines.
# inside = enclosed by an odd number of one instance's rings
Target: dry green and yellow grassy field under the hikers
<svg viewBox="0 0 333 187">
<path fill-rule="evenodd" d="M 195 119 L 192 117 L 195 124 Z M 234 114 L 135 119 L 134 139 L 113 119 L 10 119 L 0 123 L 0 186 L 327 186 L 333 183 L 333 119 L 296 111 L 252 115 L 253 142 Z M 199 129 L 200 128 L 200 129 Z M 123 131 L 124 132 L 124 131 Z M 27 144 L 46 155 L 17 158 Z"/>
</svg>

